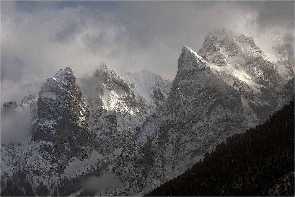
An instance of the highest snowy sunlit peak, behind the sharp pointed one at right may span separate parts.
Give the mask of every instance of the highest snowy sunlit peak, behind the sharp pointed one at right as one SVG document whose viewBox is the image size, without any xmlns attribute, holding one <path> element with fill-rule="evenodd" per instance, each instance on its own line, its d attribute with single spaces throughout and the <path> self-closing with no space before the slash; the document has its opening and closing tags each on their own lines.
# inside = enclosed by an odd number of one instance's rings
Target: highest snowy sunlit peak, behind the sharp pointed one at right
<svg viewBox="0 0 295 197">
<path fill-rule="evenodd" d="M 281 72 L 278 63 L 270 60 L 252 37 L 224 28 L 209 32 L 198 54 L 210 63 L 213 72 L 239 91 L 248 126 L 265 121 L 285 79 L 294 75 L 294 66 L 286 65 L 288 72 Z"/>
</svg>

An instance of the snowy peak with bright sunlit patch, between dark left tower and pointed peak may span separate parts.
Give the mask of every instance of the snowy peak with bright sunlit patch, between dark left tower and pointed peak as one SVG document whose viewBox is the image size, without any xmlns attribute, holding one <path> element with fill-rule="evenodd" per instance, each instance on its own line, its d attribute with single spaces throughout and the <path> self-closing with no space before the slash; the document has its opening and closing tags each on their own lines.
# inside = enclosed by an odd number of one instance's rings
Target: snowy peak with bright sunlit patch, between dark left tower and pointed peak
<svg viewBox="0 0 295 197">
<path fill-rule="evenodd" d="M 104 62 L 91 84 L 85 98 L 92 107 L 95 148 L 102 155 L 122 148 L 147 116 L 160 114 L 171 88 L 170 81 L 149 71 L 122 73 Z"/>
</svg>

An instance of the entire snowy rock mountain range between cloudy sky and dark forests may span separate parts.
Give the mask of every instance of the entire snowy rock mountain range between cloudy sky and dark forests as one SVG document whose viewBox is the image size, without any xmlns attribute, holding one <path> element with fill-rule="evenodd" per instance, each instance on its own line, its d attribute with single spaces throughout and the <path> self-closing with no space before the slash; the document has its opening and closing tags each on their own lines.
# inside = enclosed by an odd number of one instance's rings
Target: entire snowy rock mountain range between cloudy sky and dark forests
<svg viewBox="0 0 295 197">
<path fill-rule="evenodd" d="M 280 74 L 251 37 L 213 30 L 200 51 L 182 48 L 173 82 L 147 70 L 120 72 L 105 62 L 80 84 L 69 67 L 59 70 L 39 98 L 9 104 L 6 113 L 30 111 L 33 128 L 22 145 L 1 145 L 1 164 L 11 165 L 5 176 L 23 168 L 32 185 L 38 179 L 47 185 L 61 180 L 61 172 L 86 175 L 100 163 L 121 179 L 101 194 L 142 195 L 216 143 L 264 122 L 294 95 L 294 78 L 285 84 L 294 66 L 281 61 L 288 72 Z"/>
</svg>

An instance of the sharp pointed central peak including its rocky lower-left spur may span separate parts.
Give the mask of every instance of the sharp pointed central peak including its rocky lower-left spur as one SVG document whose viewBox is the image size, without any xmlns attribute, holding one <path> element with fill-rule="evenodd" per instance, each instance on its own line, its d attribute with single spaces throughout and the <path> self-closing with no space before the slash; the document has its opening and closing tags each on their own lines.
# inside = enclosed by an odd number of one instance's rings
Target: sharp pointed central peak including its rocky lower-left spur
<svg viewBox="0 0 295 197">
<path fill-rule="evenodd" d="M 112 192 L 149 191 L 193 165 L 216 143 L 244 131 L 246 122 L 239 92 L 184 47 L 163 112 L 147 119 L 122 150 L 114 171 L 126 181 Z"/>
</svg>

